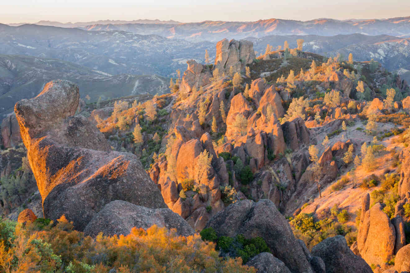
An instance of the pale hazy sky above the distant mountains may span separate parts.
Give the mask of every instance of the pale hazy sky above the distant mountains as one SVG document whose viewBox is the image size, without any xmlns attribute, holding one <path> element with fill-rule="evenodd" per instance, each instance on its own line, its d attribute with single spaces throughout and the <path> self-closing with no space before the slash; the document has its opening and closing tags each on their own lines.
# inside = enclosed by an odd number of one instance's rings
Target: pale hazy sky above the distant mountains
<svg viewBox="0 0 410 273">
<path fill-rule="evenodd" d="M 205 4 L 206 3 L 206 4 Z M 410 16 L 410 0 L 0 0 L 0 23 L 159 19 L 256 21 Z"/>
</svg>

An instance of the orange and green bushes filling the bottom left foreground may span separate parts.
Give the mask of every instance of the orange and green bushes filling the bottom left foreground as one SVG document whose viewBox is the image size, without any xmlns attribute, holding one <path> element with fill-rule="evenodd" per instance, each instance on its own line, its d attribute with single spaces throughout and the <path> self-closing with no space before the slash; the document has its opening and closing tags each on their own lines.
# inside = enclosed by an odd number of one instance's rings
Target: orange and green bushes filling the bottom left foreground
<svg viewBox="0 0 410 273">
<path fill-rule="evenodd" d="M 242 266 L 240 257 L 219 257 L 215 244 L 205 243 L 199 235 L 180 237 L 175 230 L 157 226 L 133 228 L 127 236 L 100 234 L 96 239 L 73 230 L 64 216 L 57 225 L 15 226 L 0 223 L 2 273 L 255 272 Z M 5 238 L 11 238 L 9 245 Z"/>
</svg>

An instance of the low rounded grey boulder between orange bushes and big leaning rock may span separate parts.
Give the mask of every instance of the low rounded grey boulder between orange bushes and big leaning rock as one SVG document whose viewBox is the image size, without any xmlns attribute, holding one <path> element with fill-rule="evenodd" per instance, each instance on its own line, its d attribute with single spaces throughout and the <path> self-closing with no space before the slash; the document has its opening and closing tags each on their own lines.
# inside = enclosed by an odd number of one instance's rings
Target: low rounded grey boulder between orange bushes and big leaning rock
<svg viewBox="0 0 410 273">
<path fill-rule="evenodd" d="M 167 208 L 149 209 L 132 203 L 115 200 L 105 205 L 84 229 L 84 234 L 96 237 L 128 235 L 133 227 L 147 229 L 153 225 L 175 228 L 180 236 L 194 235 L 195 230 L 187 221 Z"/>
</svg>

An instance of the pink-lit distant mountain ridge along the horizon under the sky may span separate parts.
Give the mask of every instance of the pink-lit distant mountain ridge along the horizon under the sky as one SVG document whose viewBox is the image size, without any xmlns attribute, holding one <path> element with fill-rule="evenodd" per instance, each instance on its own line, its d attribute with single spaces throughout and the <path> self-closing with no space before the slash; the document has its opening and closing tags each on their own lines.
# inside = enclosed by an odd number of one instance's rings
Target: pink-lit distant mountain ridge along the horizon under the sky
<svg viewBox="0 0 410 273">
<path fill-rule="evenodd" d="M 92 31 L 127 31 L 135 34 L 155 34 L 162 37 L 185 39 L 187 41 L 219 41 L 223 38 L 261 38 L 269 35 L 320 35 L 336 34 L 391 35 L 410 37 L 410 16 L 388 19 L 335 20 L 319 18 L 308 21 L 270 18 L 253 22 L 203 21 L 180 23 L 160 20 L 99 20 L 94 22 L 59 23 L 40 21 L 37 25 L 57 27 L 79 27 Z M 9 24 L 21 25 L 21 24 Z"/>
</svg>

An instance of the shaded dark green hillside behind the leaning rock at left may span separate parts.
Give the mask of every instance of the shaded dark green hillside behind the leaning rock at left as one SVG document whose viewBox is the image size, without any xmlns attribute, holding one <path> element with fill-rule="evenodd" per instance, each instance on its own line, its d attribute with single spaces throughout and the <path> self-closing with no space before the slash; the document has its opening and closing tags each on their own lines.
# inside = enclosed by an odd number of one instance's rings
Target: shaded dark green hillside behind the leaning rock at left
<svg viewBox="0 0 410 273">
<path fill-rule="evenodd" d="M 36 96 L 52 79 L 75 82 L 81 98 L 87 102 L 96 102 L 99 97 L 105 100 L 169 92 L 169 79 L 156 75 L 113 76 L 57 59 L 0 55 L 0 116 L 12 112 L 17 101 Z"/>
</svg>

